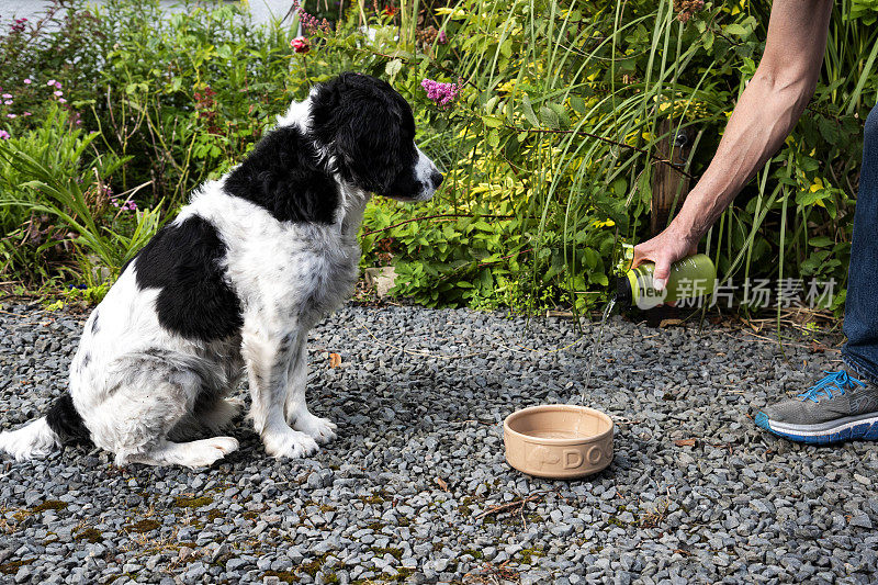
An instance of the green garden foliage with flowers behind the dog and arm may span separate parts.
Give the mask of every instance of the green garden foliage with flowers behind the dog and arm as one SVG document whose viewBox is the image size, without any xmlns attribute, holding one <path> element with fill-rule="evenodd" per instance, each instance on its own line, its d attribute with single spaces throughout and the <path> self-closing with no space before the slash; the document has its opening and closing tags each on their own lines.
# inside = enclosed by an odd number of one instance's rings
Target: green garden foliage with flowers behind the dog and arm
<svg viewBox="0 0 878 585">
<path fill-rule="evenodd" d="M 363 265 L 394 265 L 396 292 L 427 305 L 525 311 L 607 293 L 620 245 L 649 236 L 662 121 L 691 131 L 680 167 L 697 178 L 769 12 L 763 0 L 320 2 L 261 27 L 229 4 L 164 18 L 155 1 L 70 7 L 54 27 L 2 24 L 3 280 L 112 278 L 291 99 L 353 69 L 403 93 L 447 170 L 428 204 L 369 207 Z M 835 11 L 801 123 L 702 243 L 723 278 L 846 279 L 878 5 Z M 22 162 L 47 153 L 58 164 Z"/>
</svg>

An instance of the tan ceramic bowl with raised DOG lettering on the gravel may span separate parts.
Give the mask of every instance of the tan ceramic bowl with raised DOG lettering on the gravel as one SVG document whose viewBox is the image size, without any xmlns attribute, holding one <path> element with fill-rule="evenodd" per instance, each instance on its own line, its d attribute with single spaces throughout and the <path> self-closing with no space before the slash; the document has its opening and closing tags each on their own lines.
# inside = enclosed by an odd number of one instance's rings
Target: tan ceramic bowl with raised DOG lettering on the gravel
<svg viewBox="0 0 878 585">
<path fill-rule="evenodd" d="M 571 404 L 516 410 L 503 421 L 506 461 L 539 477 L 583 477 L 612 461 L 612 419 Z"/>
</svg>

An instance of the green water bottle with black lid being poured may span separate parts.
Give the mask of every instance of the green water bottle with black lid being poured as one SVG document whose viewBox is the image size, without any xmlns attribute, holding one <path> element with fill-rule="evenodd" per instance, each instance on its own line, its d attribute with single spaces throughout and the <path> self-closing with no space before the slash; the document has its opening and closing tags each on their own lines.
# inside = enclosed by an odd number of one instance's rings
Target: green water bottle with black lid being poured
<svg viewBox="0 0 878 585">
<path fill-rule="evenodd" d="M 653 262 L 629 269 L 617 281 L 616 302 L 622 307 L 652 308 L 662 303 L 674 303 L 713 293 L 717 269 L 705 254 L 696 254 L 671 265 L 671 275 L 664 290 L 652 285 Z"/>
</svg>

